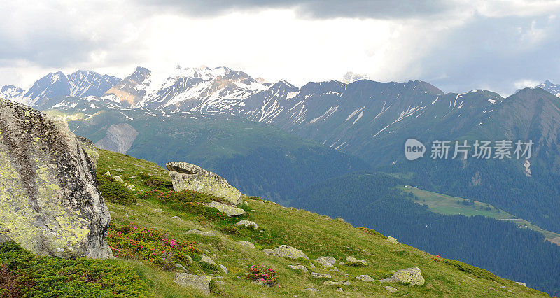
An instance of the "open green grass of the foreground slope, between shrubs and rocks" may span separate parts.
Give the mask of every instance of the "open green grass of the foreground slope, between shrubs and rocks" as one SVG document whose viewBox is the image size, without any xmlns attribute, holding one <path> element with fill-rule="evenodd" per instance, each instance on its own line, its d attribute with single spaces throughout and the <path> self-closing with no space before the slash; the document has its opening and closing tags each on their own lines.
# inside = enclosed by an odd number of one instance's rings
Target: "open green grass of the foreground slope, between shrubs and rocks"
<svg viewBox="0 0 560 298">
<path fill-rule="evenodd" d="M 113 175 L 120 175 L 125 182 L 135 185 L 137 189 L 147 190 L 143 184 L 142 176 L 159 176 L 167 178 L 164 169 L 154 164 L 144 162 L 132 157 L 120 155 L 109 151 L 100 151 L 99 173 L 111 171 Z M 111 170 L 112 169 L 112 170 Z M 116 171 L 122 169 L 123 171 Z M 168 178 L 167 178 L 168 179 Z M 424 253 L 421 250 L 403 244 L 395 245 L 386 241 L 385 237 L 365 229 L 351 227 L 339 219 L 332 219 L 308 211 L 295 208 L 284 208 L 269 201 L 262 201 L 251 197 L 245 201 L 248 206 L 248 215 L 244 219 L 252 220 L 267 231 L 272 237 L 267 239 L 259 235 L 223 234 L 225 228 L 232 227 L 232 220 L 209 220 L 208 218 L 188 212 L 169 208 L 168 204 L 161 204 L 157 199 L 139 199 L 139 204 L 120 206 L 109 204 L 112 221 L 116 225 L 127 225 L 134 222 L 139 227 L 150 227 L 169 232 L 169 237 L 179 241 L 193 241 L 201 250 L 207 252 L 218 264 L 228 268 L 228 274 L 221 276 L 221 285 L 214 284 L 213 295 L 234 295 L 246 297 L 274 297 L 293 296 L 300 297 L 311 295 L 304 290 L 316 288 L 321 296 L 344 296 L 337 292 L 337 286 L 323 285 L 320 280 L 288 269 L 290 264 L 304 264 L 309 267 L 309 262 L 290 261 L 263 253 L 259 248 L 276 248 L 281 244 L 288 244 L 303 250 L 311 259 L 321 255 L 330 255 L 337 262 L 344 262 L 346 256 L 352 255 L 360 260 L 367 260 L 366 267 L 350 267 L 337 265 L 339 271 L 330 272 L 332 281 L 350 281 L 351 285 L 342 285 L 344 292 L 353 296 L 387 296 L 383 289 L 386 285 L 398 288 L 395 295 L 409 295 L 412 297 L 426 296 L 538 296 L 542 292 L 523 287 L 512 281 L 494 278 L 484 270 L 475 271 L 474 267 L 466 264 L 458 266 L 458 262 L 445 262 Z M 163 212 L 159 212 L 161 209 Z M 177 218 L 180 218 L 178 220 Z M 237 219 L 233 222 L 237 222 Z M 215 232 L 217 236 L 201 237 L 187 235 L 188 229 L 201 229 Z M 258 249 L 243 248 L 235 241 L 251 241 Z M 141 276 L 148 280 L 148 290 L 156 297 L 183 297 L 193 295 L 193 292 L 180 288 L 172 283 L 173 273 L 157 269 L 142 260 L 121 260 L 134 267 Z M 246 267 L 262 264 L 272 267 L 278 272 L 279 287 L 263 287 L 254 285 L 244 279 Z M 462 263 L 460 263 L 462 264 Z M 319 264 L 316 264 L 319 265 Z M 194 270 L 200 270 L 194 266 Z M 426 284 L 423 286 L 409 287 L 405 284 L 380 285 L 379 282 L 364 283 L 354 277 L 360 274 L 369 274 L 376 280 L 391 276 L 391 272 L 407 267 L 419 267 Z M 463 268 L 463 271 L 458 267 Z M 313 271 L 323 272 L 322 269 Z M 189 267 L 190 269 L 190 267 Z M 203 270 L 204 271 L 204 270 Z M 471 272 L 471 273 L 470 273 Z M 475 273 L 475 274 L 472 274 Z M 239 276 L 241 278 L 237 278 Z M 505 288 L 502 288 L 505 286 Z M 511 292 L 509 292 L 511 291 Z"/>
</svg>

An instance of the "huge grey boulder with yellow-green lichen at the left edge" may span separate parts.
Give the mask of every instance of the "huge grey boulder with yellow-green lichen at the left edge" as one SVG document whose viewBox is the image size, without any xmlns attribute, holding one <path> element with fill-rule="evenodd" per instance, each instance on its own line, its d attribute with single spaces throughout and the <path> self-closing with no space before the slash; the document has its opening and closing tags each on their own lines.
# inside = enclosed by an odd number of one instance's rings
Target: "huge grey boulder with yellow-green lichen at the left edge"
<svg viewBox="0 0 560 298">
<path fill-rule="evenodd" d="M 111 216 L 64 122 L 0 99 L 0 241 L 38 255 L 112 257 Z"/>
</svg>

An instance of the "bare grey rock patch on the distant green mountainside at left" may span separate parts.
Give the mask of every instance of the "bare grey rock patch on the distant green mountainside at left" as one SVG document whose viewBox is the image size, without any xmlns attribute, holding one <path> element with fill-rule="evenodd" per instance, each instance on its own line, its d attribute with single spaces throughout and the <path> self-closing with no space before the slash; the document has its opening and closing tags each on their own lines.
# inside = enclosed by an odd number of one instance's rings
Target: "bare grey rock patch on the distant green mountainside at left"
<svg viewBox="0 0 560 298">
<path fill-rule="evenodd" d="M 95 146 L 109 151 L 119 152 L 125 154 L 128 152 L 132 143 L 136 140 L 138 132 L 132 125 L 128 123 L 119 123 L 111 125 L 107 129 L 107 135 L 97 141 Z"/>
</svg>

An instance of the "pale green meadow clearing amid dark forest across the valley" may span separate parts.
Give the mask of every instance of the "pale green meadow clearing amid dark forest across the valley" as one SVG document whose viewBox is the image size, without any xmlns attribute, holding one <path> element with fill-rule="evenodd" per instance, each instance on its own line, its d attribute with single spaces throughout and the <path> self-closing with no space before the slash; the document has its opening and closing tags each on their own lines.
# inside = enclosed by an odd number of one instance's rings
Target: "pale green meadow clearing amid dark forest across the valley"
<svg viewBox="0 0 560 298">
<path fill-rule="evenodd" d="M 438 194 L 437 192 L 430 192 L 428 190 L 421 190 L 410 185 L 400 185 L 398 189 L 402 192 L 412 192 L 417 200 L 417 204 L 427 205 L 428 209 L 434 213 L 445 215 L 465 215 L 475 216 L 482 215 L 496 220 L 507 220 L 517 224 L 518 227 L 523 229 L 532 229 L 533 231 L 541 233 L 545 236 L 547 241 L 555 243 L 560 246 L 560 234 L 541 229 L 537 225 L 533 225 L 522 218 L 517 218 L 514 215 L 498 209 L 490 204 L 481 201 L 472 200 L 472 204 L 463 204 L 463 201 L 469 200 L 461 197 L 451 197 L 447 194 Z"/>
</svg>

